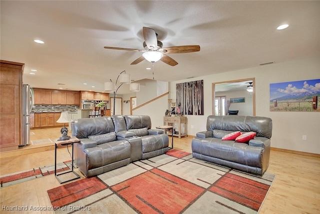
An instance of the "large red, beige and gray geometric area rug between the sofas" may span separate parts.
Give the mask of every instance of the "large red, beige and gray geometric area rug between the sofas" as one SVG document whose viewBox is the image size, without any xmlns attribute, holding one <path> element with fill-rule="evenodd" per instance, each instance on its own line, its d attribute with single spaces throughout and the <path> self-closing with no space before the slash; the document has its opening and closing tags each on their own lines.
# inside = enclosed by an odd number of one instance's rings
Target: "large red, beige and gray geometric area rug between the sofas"
<svg viewBox="0 0 320 214">
<path fill-rule="evenodd" d="M 274 178 L 173 149 L 47 192 L 55 213 L 257 213 Z"/>
</svg>

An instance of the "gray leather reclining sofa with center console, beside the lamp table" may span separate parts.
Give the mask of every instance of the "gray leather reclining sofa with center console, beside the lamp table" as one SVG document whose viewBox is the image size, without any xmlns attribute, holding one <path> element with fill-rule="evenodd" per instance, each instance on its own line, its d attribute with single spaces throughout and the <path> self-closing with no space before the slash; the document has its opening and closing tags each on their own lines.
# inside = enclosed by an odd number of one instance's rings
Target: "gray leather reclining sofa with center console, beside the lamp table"
<svg viewBox="0 0 320 214">
<path fill-rule="evenodd" d="M 98 175 L 168 151 L 169 139 L 162 130 L 150 129 L 146 115 L 78 119 L 71 122 L 74 161 L 86 177 Z"/>
</svg>

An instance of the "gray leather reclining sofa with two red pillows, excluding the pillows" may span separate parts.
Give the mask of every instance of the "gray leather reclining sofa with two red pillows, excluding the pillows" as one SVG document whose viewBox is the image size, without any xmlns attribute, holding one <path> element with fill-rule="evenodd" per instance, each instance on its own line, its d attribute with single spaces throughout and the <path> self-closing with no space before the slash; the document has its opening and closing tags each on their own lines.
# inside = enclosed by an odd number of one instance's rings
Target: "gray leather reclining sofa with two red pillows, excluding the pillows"
<svg viewBox="0 0 320 214">
<path fill-rule="evenodd" d="M 256 132 L 247 143 L 221 138 L 234 131 Z M 208 116 L 206 131 L 192 139 L 192 156 L 226 165 L 249 173 L 262 175 L 268 167 L 272 120 L 252 116 Z"/>
</svg>

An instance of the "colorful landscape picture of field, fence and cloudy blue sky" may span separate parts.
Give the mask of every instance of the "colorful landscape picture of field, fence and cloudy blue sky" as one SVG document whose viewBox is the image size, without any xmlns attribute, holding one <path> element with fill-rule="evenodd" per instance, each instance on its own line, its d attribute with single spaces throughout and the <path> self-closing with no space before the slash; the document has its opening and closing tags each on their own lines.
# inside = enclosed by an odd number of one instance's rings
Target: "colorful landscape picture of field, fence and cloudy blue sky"
<svg viewBox="0 0 320 214">
<path fill-rule="evenodd" d="M 270 84 L 270 111 L 320 112 L 320 79 Z"/>
</svg>

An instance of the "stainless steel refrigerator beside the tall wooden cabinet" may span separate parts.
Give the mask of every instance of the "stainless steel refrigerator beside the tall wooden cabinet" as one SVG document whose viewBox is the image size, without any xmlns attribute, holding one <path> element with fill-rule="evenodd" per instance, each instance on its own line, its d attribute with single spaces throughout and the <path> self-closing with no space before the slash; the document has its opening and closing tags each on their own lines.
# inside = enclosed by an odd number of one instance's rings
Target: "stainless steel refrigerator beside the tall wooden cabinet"
<svg viewBox="0 0 320 214">
<path fill-rule="evenodd" d="M 25 146 L 30 141 L 30 111 L 32 108 L 32 93 L 30 85 L 22 85 L 22 144 Z"/>
</svg>

